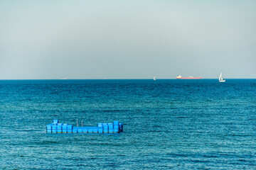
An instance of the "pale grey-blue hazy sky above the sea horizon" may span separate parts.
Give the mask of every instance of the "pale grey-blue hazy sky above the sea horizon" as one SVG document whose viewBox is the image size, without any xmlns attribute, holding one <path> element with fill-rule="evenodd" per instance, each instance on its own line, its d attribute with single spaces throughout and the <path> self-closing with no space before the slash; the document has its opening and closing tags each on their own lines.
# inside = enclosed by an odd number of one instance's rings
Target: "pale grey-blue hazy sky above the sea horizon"
<svg viewBox="0 0 256 170">
<path fill-rule="evenodd" d="M 2 0 L 0 79 L 256 79 L 255 0 Z"/>
</svg>

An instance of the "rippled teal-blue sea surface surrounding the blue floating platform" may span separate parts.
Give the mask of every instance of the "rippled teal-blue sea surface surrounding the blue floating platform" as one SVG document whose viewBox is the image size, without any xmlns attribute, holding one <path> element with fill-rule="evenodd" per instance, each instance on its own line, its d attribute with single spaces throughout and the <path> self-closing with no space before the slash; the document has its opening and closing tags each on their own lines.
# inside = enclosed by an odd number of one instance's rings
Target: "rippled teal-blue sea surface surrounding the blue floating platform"
<svg viewBox="0 0 256 170">
<path fill-rule="evenodd" d="M 256 79 L 1 80 L 0 169 L 256 169 Z"/>
</svg>

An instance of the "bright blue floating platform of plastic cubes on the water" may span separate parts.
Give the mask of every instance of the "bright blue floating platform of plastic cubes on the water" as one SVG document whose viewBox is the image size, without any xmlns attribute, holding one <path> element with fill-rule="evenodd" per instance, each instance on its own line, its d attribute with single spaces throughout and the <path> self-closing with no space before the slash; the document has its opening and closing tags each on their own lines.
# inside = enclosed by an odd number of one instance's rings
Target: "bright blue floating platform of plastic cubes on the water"
<svg viewBox="0 0 256 170">
<path fill-rule="evenodd" d="M 73 127 L 73 125 L 59 123 L 58 120 L 53 120 L 52 124 L 46 126 L 48 133 L 112 133 L 122 132 L 123 124 L 118 121 L 114 123 L 98 123 L 97 127 Z"/>
</svg>

